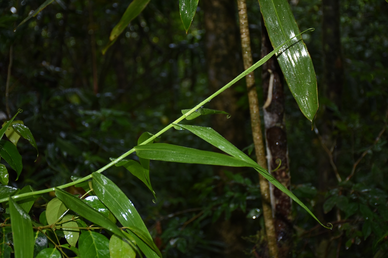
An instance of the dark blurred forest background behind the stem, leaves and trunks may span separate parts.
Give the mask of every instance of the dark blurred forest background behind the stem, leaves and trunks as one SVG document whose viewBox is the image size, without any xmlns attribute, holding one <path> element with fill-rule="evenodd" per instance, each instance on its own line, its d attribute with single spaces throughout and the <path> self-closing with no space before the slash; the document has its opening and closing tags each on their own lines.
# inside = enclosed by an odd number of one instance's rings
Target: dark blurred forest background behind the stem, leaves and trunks
<svg viewBox="0 0 388 258">
<path fill-rule="evenodd" d="M 14 32 L 41 3 L 1 0 L 0 118 L 7 120 L 23 109 L 17 119 L 31 129 L 39 149 L 34 162 L 35 149 L 28 141 L 19 141 L 23 172 L 15 181 L 16 173 L 8 167 L 9 185 L 29 184 L 41 190 L 68 183 L 71 176 L 86 176 L 137 145 L 141 133 L 158 132 L 178 118 L 181 109 L 194 107 L 243 71 L 233 0 L 200 0 L 187 35 L 177 0 L 151 0 L 102 55 L 111 29 L 129 3 L 57 0 Z M 333 67 L 324 62 L 328 52 L 322 27 L 328 25 L 322 3 L 339 8 L 340 41 L 334 49 L 342 68 L 334 69 L 340 79 L 329 85 L 325 74 Z M 388 107 L 388 3 L 291 0 L 289 4 L 301 31 L 315 28 L 303 39 L 317 74 L 315 125 L 321 136 L 311 130 L 284 82 L 291 189 L 334 228 L 317 226 L 293 203 L 292 248 L 282 257 L 388 257 L 388 148 L 383 131 Z M 257 62 L 262 18 L 257 1 L 247 5 Z M 261 68 L 255 70 L 262 105 L 261 74 Z M 205 107 L 223 109 L 232 117 L 200 116 L 185 123 L 214 128 L 255 160 L 245 81 Z M 161 142 L 213 150 L 191 133 L 175 129 L 164 133 Z M 134 154 L 130 158 L 137 159 Z M 150 166 L 156 203 L 124 167 L 111 167 L 104 174 L 130 198 L 165 257 L 265 256 L 260 189 L 253 169 L 162 161 L 151 161 Z M 353 167 L 354 176 L 338 183 L 334 169 L 345 179 Z M 38 210 L 31 212 L 38 219 Z"/>
</svg>

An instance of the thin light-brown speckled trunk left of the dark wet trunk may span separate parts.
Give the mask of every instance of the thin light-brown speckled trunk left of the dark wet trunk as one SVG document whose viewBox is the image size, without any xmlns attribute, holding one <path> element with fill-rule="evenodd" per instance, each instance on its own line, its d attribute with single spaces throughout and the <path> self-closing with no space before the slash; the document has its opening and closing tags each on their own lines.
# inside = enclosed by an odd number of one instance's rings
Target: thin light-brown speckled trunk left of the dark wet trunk
<svg viewBox="0 0 388 258">
<path fill-rule="evenodd" d="M 253 65 L 251 42 L 249 37 L 248 14 L 246 10 L 246 1 L 237 0 L 237 8 L 239 14 L 240 38 L 242 60 L 244 69 L 248 69 Z M 246 87 L 248 91 L 249 113 L 251 114 L 251 128 L 253 143 L 255 144 L 255 153 L 257 163 L 267 169 L 267 160 L 265 159 L 265 151 L 263 144 L 263 133 L 260 121 L 259 102 L 255 87 L 255 75 L 253 72 L 245 77 Z M 265 223 L 265 232 L 267 235 L 268 255 L 269 257 L 278 257 L 274 220 L 272 219 L 272 208 L 270 203 L 270 191 L 268 180 L 259 174 L 260 192 L 263 203 L 263 217 Z M 261 248 L 260 248 L 261 249 Z"/>
</svg>

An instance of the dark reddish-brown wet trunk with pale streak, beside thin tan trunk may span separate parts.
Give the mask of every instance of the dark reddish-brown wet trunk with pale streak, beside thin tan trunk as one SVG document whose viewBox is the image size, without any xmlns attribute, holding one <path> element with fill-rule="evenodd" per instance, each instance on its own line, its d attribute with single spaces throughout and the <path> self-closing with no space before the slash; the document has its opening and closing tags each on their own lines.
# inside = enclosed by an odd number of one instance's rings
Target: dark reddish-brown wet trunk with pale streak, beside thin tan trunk
<svg viewBox="0 0 388 258">
<path fill-rule="evenodd" d="M 268 37 L 267 29 L 262 21 L 262 58 L 272 50 L 273 47 Z M 283 75 L 275 56 L 272 56 L 262 66 L 263 95 L 265 99 L 268 96 L 268 88 L 270 85 L 270 72 L 268 69 L 272 70 L 272 73 L 274 74 L 272 101 L 270 105 L 263 110 L 268 169 L 270 171 L 276 169 L 278 167 L 278 163 L 276 161 L 280 159 L 281 166 L 271 174 L 280 183 L 282 183 L 282 185 L 291 190 L 287 134 L 284 117 L 284 91 L 282 85 Z M 275 220 L 275 232 L 279 248 L 279 257 L 290 257 L 293 235 L 291 198 L 272 184 L 270 184 L 270 194 L 272 212 Z"/>
</svg>

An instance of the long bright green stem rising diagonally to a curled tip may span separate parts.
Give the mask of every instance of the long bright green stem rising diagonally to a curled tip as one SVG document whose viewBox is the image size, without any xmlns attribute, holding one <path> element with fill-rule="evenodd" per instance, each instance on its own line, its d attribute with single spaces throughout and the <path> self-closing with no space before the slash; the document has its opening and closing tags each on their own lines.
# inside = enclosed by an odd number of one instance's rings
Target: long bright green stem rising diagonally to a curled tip
<svg viewBox="0 0 388 258">
<path fill-rule="evenodd" d="M 273 56 L 277 51 L 279 51 L 282 46 L 284 46 L 285 44 L 287 44 L 289 41 L 291 41 L 293 38 L 295 37 L 298 37 L 300 34 L 306 32 L 306 31 L 314 31 L 313 28 L 310 28 L 310 29 L 307 29 L 297 35 L 295 35 L 294 37 L 292 37 L 291 39 L 289 39 L 288 41 L 284 42 L 283 44 L 281 44 L 280 46 L 278 46 L 277 48 L 274 49 L 274 51 L 272 51 L 271 53 L 269 53 L 268 55 L 264 56 L 262 59 L 260 59 L 257 63 L 255 63 L 254 65 L 252 65 L 251 67 L 249 67 L 248 69 L 246 69 L 244 72 L 242 72 L 239 76 L 237 76 L 236 78 L 234 78 L 231 82 L 229 82 L 227 85 L 223 86 L 221 89 L 219 89 L 218 91 L 216 91 L 215 93 L 213 93 L 211 96 L 209 96 L 208 98 L 206 98 L 204 101 L 202 101 L 201 103 L 199 103 L 197 106 L 195 106 L 194 108 L 192 108 L 189 112 L 187 112 L 186 114 L 182 115 L 180 118 L 178 118 L 177 120 L 173 121 L 170 125 L 166 126 L 165 128 L 163 128 L 161 131 L 159 131 L 158 133 L 156 133 L 155 135 L 153 135 L 151 138 L 145 140 L 144 142 L 142 142 L 141 144 L 139 145 L 144 145 L 144 144 L 147 144 L 149 142 L 151 142 L 152 140 L 154 140 L 156 137 L 158 137 L 159 135 L 161 135 L 162 133 L 166 132 L 168 129 L 170 129 L 171 127 L 173 127 L 173 124 L 177 124 L 179 123 L 180 121 L 184 120 L 187 116 L 189 116 L 191 113 L 195 112 L 198 108 L 200 108 L 201 106 L 203 106 L 204 104 L 208 103 L 209 101 L 211 101 L 211 99 L 213 99 L 215 96 L 217 96 L 218 94 L 220 94 L 221 92 L 225 91 L 227 88 L 229 88 L 230 86 L 232 86 L 233 84 L 235 84 L 237 81 L 239 81 L 241 78 L 243 78 L 244 76 L 248 75 L 248 73 L 252 72 L 253 70 L 255 70 L 256 68 L 258 68 L 260 65 L 262 65 L 263 63 L 267 62 L 268 59 L 271 58 L 271 56 Z M 107 168 L 113 166 L 114 164 L 116 164 L 117 162 L 121 161 L 122 159 L 124 159 L 126 156 L 128 156 L 129 154 L 131 154 L 132 152 L 134 152 L 135 149 L 132 148 L 130 150 L 128 150 L 127 152 L 125 152 L 123 155 L 121 155 L 120 157 L 118 157 L 117 159 L 115 159 L 114 161 L 112 161 L 111 163 L 105 165 L 104 167 L 101 167 L 99 170 L 95 171 L 97 173 L 101 173 L 102 171 L 106 170 Z M 92 174 L 88 175 L 88 176 L 85 176 L 84 178 L 81 178 L 81 179 L 78 179 L 76 181 L 73 181 L 71 183 L 68 183 L 66 185 L 61 185 L 61 186 L 57 186 L 57 188 L 59 189 L 63 189 L 63 188 L 66 188 L 66 187 L 69 187 L 69 186 L 72 186 L 72 185 L 76 185 L 76 184 L 79 184 L 79 183 L 82 183 L 83 181 L 87 180 L 87 179 L 90 179 L 92 178 Z M 14 195 L 12 196 L 12 199 L 18 199 L 18 198 L 21 198 L 21 197 L 25 197 L 25 196 L 30 196 L 30 195 L 40 195 L 42 193 L 48 193 L 48 192 L 51 192 L 51 191 L 55 191 L 54 190 L 54 187 L 53 188 L 49 188 L 49 189 L 45 189 L 45 190 L 40 190 L 40 191 L 34 191 L 34 192 L 29 192 L 29 193 L 22 193 L 20 195 Z M 2 202 L 7 202 L 9 200 L 9 198 L 3 198 L 0 200 L 0 203 Z"/>
</svg>

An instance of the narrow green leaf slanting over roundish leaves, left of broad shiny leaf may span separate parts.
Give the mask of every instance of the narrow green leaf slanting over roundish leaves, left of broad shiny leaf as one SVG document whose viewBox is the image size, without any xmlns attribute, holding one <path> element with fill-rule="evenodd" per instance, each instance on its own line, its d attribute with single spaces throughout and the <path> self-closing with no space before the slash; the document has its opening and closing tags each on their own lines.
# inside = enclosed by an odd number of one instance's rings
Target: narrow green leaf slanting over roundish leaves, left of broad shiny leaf
<svg viewBox="0 0 388 258">
<path fill-rule="evenodd" d="M 124 237 L 121 230 L 106 216 L 95 210 L 94 208 L 87 205 L 80 198 L 75 197 L 59 188 L 55 189 L 55 195 L 71 210 L 81 215 L 87 220 L 90 220 L 94 224 L 106 228 L 107 230 Z M 81 255 L 82 256 L 82 255 Z"/>
</svg>

